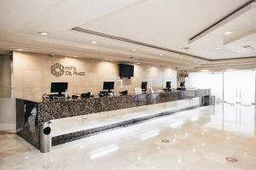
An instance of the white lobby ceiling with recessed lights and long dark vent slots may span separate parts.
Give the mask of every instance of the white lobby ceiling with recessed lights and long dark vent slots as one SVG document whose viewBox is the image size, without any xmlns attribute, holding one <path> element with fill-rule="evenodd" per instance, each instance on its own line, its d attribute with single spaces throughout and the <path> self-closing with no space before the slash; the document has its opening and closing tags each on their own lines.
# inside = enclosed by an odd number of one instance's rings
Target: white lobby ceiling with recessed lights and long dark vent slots
<svg viewBox="0 0 256 170">
<path fill-rule="evenodd" d="M 228 44 L 223 45 L 227 40 L 223 32 L 222 34 L 219 32 L 225 29 L 230 31 L 231 28 L 236 27 L 241 29 L 246 27 L 247 31 L 256 29 L 255 8 L 247 10 L 246 13 L 236 16 L 234 20 L 219 26 L 206 36 L 189 43 L 190 37 L 247 2 L 247 0 L 1 0 L 0 51 L 22 48 L 24 51 L 38 53 L 131 62 L 157 62 L 172 67 L 192 68 L 209 61 L 71 31 L 71 29 L 79 26 L 207 59 L 247 57 L 252 56 L 252 53 L 232 51 L 228 48 Z M 41 36 L 38 34 L 40 31 L 49 32 L 49 35 Z M 236 35 L 235 33 L 236 30 L 231 36 Z M 216 34 L 219 36 L 215 37 Z M 243 38 L 248 39 L 248 37 Z M 98 43 L 91 44 L 91 41 Z M 216 45 L 217 42 L 221 42 L 223 46 Z M 190 47 L 189 50 L 182 49 L 187 46 Z M 224 46 L 225 50 L 216 52 L 216 47 Z M 132 51 L 132 48 L 136 48 L 137 51 Z M 164 55 L 160 56 L 160 54 Z"/>
</svg>

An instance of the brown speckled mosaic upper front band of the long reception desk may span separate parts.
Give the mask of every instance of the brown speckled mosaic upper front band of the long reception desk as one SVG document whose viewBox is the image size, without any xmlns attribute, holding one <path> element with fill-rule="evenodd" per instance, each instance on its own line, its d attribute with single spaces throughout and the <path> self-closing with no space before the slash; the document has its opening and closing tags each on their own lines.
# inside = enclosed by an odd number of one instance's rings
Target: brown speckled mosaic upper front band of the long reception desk
<svg viewBox="0 0 256 170">
<path fill-rule="evenodd" d="M 89 99 L 44 100 L 38 103 L 38 122 L 47 122 L 69 116 L 81 116 L 91 113 L 126 109 L 142 105 L 154 105 L 163 102 L 203 97 L 211 94 L 210 89 L 196 89 L 154 94 L 131 94 L 106 96 Z"/>
</svg>

